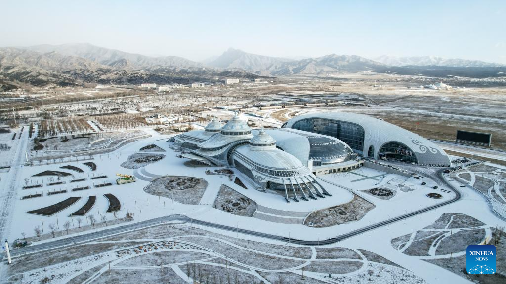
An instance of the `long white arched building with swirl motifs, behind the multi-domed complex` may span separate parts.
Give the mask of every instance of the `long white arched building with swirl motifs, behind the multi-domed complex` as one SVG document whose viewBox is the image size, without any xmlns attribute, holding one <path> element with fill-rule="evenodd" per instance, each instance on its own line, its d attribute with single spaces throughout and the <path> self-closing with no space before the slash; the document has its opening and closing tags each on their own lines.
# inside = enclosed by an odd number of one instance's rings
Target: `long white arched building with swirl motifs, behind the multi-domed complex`
<svg viewBox="0 0 506 284">
<path fill-rule="evenodd" d="M 439 146 L 416 133 L 371 116 L 350 112 L 294 117 L 281 129 L 299 129 L 343 140 L 363 157 L 396 159 L 422 166 L 451 166 Z"/>
</svg>

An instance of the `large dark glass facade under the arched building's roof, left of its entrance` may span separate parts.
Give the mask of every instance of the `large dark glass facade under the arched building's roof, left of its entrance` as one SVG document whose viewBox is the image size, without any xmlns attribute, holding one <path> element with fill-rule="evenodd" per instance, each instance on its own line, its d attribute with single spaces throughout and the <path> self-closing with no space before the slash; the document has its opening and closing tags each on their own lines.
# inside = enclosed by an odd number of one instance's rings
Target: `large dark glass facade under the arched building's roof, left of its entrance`
<svg viewBox="0 0 506 284">
<path fill-rule="evenodd" d="M 329 135 L 343 140 L 353 150 L 364 151 L 365 131 L 362 126 L 356 123 L 325 118 L 308 118 L 293 123 L 291 128 Z"/>
</svg>

